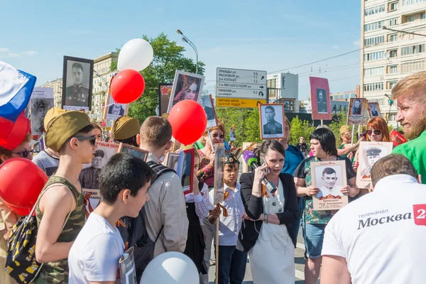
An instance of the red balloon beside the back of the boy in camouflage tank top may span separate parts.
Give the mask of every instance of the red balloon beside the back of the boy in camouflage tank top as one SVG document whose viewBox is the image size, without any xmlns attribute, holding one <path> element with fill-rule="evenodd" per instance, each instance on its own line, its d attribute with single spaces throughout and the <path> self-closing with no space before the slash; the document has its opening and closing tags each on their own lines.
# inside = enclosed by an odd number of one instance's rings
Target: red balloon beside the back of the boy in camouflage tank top
<svg viewBox="0 0 426 284">
<path fill-rule="evenodd" d="M 11 158 L 0 165 L 0 197 L 15 208 L 31 210 L 46 182 L 48 176 L 31 160 Z"/>
</svg>

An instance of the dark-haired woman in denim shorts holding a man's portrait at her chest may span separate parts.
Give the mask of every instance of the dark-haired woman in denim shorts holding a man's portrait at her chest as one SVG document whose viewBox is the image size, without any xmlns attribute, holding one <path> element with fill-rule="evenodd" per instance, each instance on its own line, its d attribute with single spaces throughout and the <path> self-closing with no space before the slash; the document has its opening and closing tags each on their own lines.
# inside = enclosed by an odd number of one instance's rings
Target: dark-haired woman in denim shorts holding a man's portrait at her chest
<svg viewBox="0 0 426 284">
<path fill-rule="evenodd" d="M 305 283 L 315 284 L 320 276 L 321 250 L 324 229 L 337 210 L 318 211 L 313 209 L 312 196 L 320 189 L 312 186 L 311 163 L 327 160 L 344 160 L 346 162 L 346 178 L 348 185 L 340 190 L 344 195 L 355 197 L 359 194 L 356 187 L 356 173 L 349 158 L 337 155 L 336 138 L 329 129 L 317 129 L 310 135 L 313 156 L 306 158 L 295 171 L 297 196 L 305 197 L 305 214 L 303 217 L 303 237 L 307 253 L 305 265 Z"/>
</svg>

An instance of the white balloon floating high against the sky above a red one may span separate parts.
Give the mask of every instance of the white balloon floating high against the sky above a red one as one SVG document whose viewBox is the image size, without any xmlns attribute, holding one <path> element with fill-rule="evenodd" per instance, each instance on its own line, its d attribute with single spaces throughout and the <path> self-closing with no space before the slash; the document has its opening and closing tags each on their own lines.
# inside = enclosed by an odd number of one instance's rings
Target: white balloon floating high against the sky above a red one
<svg viewBox="0 0 426 284">
<path fill-rule="evenodd" d="M 139 72 L 151 64 L 153 56 L 154 50 L 148 41 L 134 38 L 121 48 L 117 68 L 119 71 L 133 69 Z"/>
</svg>

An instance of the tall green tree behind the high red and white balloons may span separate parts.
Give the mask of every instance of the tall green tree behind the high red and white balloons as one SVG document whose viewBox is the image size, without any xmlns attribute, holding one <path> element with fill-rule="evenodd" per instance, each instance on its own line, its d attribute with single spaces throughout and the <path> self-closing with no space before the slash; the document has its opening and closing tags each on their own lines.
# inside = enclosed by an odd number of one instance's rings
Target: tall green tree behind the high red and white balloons
<svg viewBox="0 0 426 284">
<path fill-rule="evenodd" d="M 155 108 L 158 106 L 158 84 L 173 82 L 176 70 L 191 73 L 195 73 L 196 70 L 195 62 L 183 55 L 185 48 L 169 40 L 164 33 L 160 33 L 156 38 L 143 35 L 143 39 L 151 43 L 154 58 L 151 65 L 141 71 L 145 79 L 145 92 L 141 98 L 130 104 L 129 109 L 129 115 L 141 122 L 148 116 L 155 115 Z M 117 52 L 120 50 L 117 49 Z M 114 62 L 111 64 L 111 70 L 116 69 L 117 63 Z M 204 74 L 203 62 L 198 62 L 198 73 Z"/>
</svg>

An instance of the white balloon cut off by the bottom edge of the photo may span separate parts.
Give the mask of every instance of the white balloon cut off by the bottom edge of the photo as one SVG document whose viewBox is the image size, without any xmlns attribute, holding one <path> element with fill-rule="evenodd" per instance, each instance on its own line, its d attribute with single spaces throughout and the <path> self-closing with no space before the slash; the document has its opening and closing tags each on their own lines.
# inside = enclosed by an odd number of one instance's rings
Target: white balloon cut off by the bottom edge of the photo
<svg viewBox="0 0 426 284">
<path fill-rule="evenodd" d="M 198 284 L 195 263 L 183 253 L 169 251 L 154 258 L 143 271 L 141 284 Z"/>
</svg>

